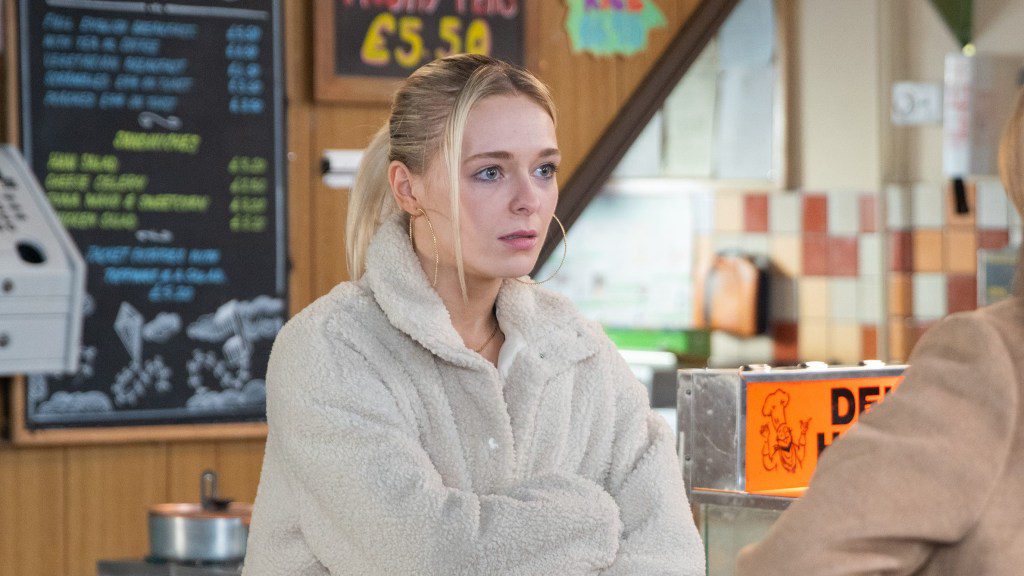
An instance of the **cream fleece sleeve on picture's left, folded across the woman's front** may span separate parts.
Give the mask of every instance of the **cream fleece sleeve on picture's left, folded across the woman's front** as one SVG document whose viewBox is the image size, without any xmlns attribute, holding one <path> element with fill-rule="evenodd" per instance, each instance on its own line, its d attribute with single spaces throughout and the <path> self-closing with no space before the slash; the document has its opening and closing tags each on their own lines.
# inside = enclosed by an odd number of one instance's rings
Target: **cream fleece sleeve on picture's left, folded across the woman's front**
<svg viewBox="0 0 1024 576">
<path fill-rule="evenodd" d="M 505 494 L 446 487 L 372 365 L 316 330 L 279 335 L 267 389 L 268 442 L 331 574 L 586 574 L 614 558 L 622 525 L 600 486 L 552 474 Z"/>
</svg>

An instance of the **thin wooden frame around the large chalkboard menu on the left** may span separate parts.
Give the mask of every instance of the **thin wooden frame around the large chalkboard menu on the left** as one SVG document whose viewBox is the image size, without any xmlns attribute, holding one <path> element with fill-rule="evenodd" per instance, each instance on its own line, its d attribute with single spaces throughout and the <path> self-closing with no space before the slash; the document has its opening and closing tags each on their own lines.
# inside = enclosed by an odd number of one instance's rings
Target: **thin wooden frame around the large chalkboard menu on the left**
<svg viewBox="0 0 1024 576">
<path fill-rule="evenodd" d="M 275 269 L 281 269 L 284 276 L 276 274 L 280 282 L 284 282 L 284 288 L 279 289 L 276 295 L 284 300 L 285 320 L 289 314 L 288 310 L 288 230 L 287 230 L 287 162 L 285 162 L 286 146 L 286 102 L 284 96 L 285 85 L 285 57 L 284 57 L 284 6 L 283 0 L 268 0 L 270 24 L 267 27 L 269 32 L 269 46 L 272 55 L 269 56 L 273 69 L 273 80 L 267 86 L 266 98 L 272 107 L 273 115 L 270 118 L 272 124 L 272 143 L 269 147 L 269 154 L 272 158 L 268 161 L 274 168 L 274 177 L 271 182 L 272 196 L 270 200 L 275 204 L 273 215 L 274 228 L 272 237 L 278 245 L 278 257 L 274 259 Z M 22 2 L 8 2 L 3 7 L 3 16 L 6 20 L 3 29 L 4 34 L 9 39 L 6 42 L 8 47 L 5 56 L 7 69 L 11 71 L 7 75 L 7 86 L 4 95 L 7 98 L 6 109 L 10 121 L 5 123 L 5 137 L 8 141 L 19 142 L 24 139 L 23 129 L 30 129 L 31 118 L 23 118 L 22 82 L 23 82 L 23 42 L 22 37 Z M 35 41 L 35 40 L 33 40 Z M 280 260 L 280 261 L 279 261 Z M 282 280 L 283 279 L 283 280 Z M 82 444 L 115 444 L 127 442 L 155 442 L 155 441 L 190 441 L 190 440 L 221 440 L 221 439 L 259 439 L 265 438 L 267 425 L 265 413 L 262 417 L 254 418 L 252 415 L 234 418 L 228 411 L 223 414 L 210 413 L 208 419 L 200 421 L 188 421 L 176 423 L 173 421 L 157 421 L 156 423 L 131 423 L 118 421 L 112 418 L 109 422 L 102 423 L 71 423 L 67 426 L 58 427 L 38 427 L 30 425 L 30 416 L 27 413 L 29 382 L 25 376 L 17 376 L 12 379 L 9 398 L 9 430 L 11 442 L 15 445 L 82 445 Z M 166 418 L 164 419 L 166 420 Z"/>
</svg>

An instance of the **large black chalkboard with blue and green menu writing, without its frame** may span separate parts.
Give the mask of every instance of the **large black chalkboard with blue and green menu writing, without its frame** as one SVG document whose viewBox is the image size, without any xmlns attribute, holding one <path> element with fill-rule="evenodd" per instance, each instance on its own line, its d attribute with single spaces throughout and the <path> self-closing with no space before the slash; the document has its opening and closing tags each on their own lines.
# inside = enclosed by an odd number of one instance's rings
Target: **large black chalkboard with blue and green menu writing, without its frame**
<svg viewBox="0 0 1024 576">
<path fill-rule="evenodd" d="M 20 0 L 23 150 L 88 266 L 29 429 L 258 421 L 287 315 L 280 2 Z"/>
</svg>

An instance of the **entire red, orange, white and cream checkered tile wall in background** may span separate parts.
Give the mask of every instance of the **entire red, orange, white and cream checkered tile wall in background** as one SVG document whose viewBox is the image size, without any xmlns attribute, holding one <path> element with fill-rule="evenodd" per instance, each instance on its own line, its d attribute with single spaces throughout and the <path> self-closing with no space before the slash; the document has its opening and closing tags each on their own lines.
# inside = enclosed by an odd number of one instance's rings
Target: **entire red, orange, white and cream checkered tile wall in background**
<svg viewBox="0 0 1024 576">
<path fill-rule="evenodd" d="M 740 249 L 769 256 L 773 268 L 769 333 L 715 333 L 711 364 L 904 361 L 936 320 L 975 307 L 977 249 L 1020 242 L 1020 220 L 998 181 L 968 190 L 965 215 L 941 186 L 889 187 L 884 227 L 870 192 L 709 196 L 695 217 L 699 255 Z M 880 349 L 884 323 L 888 348 Z"/>
</svg>

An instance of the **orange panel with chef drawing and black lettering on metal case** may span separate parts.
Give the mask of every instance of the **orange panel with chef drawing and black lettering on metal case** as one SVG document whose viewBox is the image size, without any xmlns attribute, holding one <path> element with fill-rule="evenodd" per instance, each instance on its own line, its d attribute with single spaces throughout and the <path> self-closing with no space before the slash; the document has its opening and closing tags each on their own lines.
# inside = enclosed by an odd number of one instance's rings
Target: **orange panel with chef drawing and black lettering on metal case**
<svg viewBox="0 0 1024 576">
<path fill-rule="evenodd" d="M 746 383 L 745 489 L 802 494 L 820 454 L 902 376 Z"/>
</svg>

